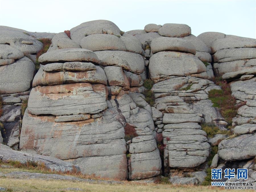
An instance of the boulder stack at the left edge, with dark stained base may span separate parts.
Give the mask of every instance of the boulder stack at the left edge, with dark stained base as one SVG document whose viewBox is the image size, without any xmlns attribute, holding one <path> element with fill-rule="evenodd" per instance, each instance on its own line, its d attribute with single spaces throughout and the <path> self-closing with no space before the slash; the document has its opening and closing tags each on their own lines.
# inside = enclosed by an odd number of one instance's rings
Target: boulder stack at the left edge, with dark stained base
<svg viewBox="0 0 256 192">
<path fill-rule="evenodd" d="M 3 103 L 1 135 L 5 144 L 17 150 L 21 105 L 23 100 L 28 100 L 35 72 L 33 62 L 43 45 L 26 34 L 26 31 L 6 26 L 1 26 L 0 30 L 0 97 Z"/>
</svg>

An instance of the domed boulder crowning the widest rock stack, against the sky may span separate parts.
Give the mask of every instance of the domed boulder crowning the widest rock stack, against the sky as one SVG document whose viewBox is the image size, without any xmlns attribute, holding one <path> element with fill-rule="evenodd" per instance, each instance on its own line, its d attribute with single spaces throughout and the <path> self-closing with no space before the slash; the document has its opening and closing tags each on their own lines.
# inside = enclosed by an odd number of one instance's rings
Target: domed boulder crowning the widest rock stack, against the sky
<svg viewBox="0 0 256 192">
<path fill-rule="evenodd" d="M 85 36 L 91 34 L 110 34 L 121 36 L 120 29 L 108 20 L 93 20 L 81 23 L 70 30 L 71 39 L 80 44 Z"/>
</svg>

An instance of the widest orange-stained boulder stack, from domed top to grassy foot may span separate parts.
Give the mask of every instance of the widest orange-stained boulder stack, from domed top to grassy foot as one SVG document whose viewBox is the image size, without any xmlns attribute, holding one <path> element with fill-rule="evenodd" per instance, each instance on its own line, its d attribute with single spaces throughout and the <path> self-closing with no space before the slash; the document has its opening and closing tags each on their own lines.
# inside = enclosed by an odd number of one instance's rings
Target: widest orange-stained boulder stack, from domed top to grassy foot
<svg viewBox="0 0 256 192">
<path fill-rule="evenodd" d="M 152 111 L 138 93 L 145 76 L 141 43 L 106 20 L 70 32 L 71 38 L 56 34 L 39 57 L 20 148 L 70 161 L 84 174 L 158 176 Z"/>
</svg>

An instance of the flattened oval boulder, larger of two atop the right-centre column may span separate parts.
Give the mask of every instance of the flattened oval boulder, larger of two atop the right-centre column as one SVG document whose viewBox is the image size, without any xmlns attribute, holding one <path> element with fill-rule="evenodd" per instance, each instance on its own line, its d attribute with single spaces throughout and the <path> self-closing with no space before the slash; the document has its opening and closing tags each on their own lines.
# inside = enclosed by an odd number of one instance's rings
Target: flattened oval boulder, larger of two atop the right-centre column
<svg viewBox="0 0 256 192">
<path fill-rule="evenodd" d="M 191 28 L 186 24 L 166 23 L 158 33 L 166 37 L 185 37 L 191 34 Z"/>
</svg>

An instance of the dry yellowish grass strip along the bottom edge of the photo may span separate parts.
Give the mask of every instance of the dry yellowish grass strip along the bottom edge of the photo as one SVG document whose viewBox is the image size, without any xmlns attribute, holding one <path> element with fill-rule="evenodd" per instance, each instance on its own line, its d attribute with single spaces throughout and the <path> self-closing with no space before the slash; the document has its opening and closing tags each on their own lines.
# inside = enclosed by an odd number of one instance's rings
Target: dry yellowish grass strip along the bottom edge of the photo
<svg viewBox="0 0 256 192">
<path fill-rule="evenodd" d="M 170 185 L 170 184 L 144 184 L 125 182 L 124 184 L 98 184 L 81 181 L 40 180 L 40 179 L 10 179 L 1 178 L 1 187 L 9 191 L 232 191 L 223 187 Z M 72 189 L 73 188 L 73 189 Z"/>
</svg>

